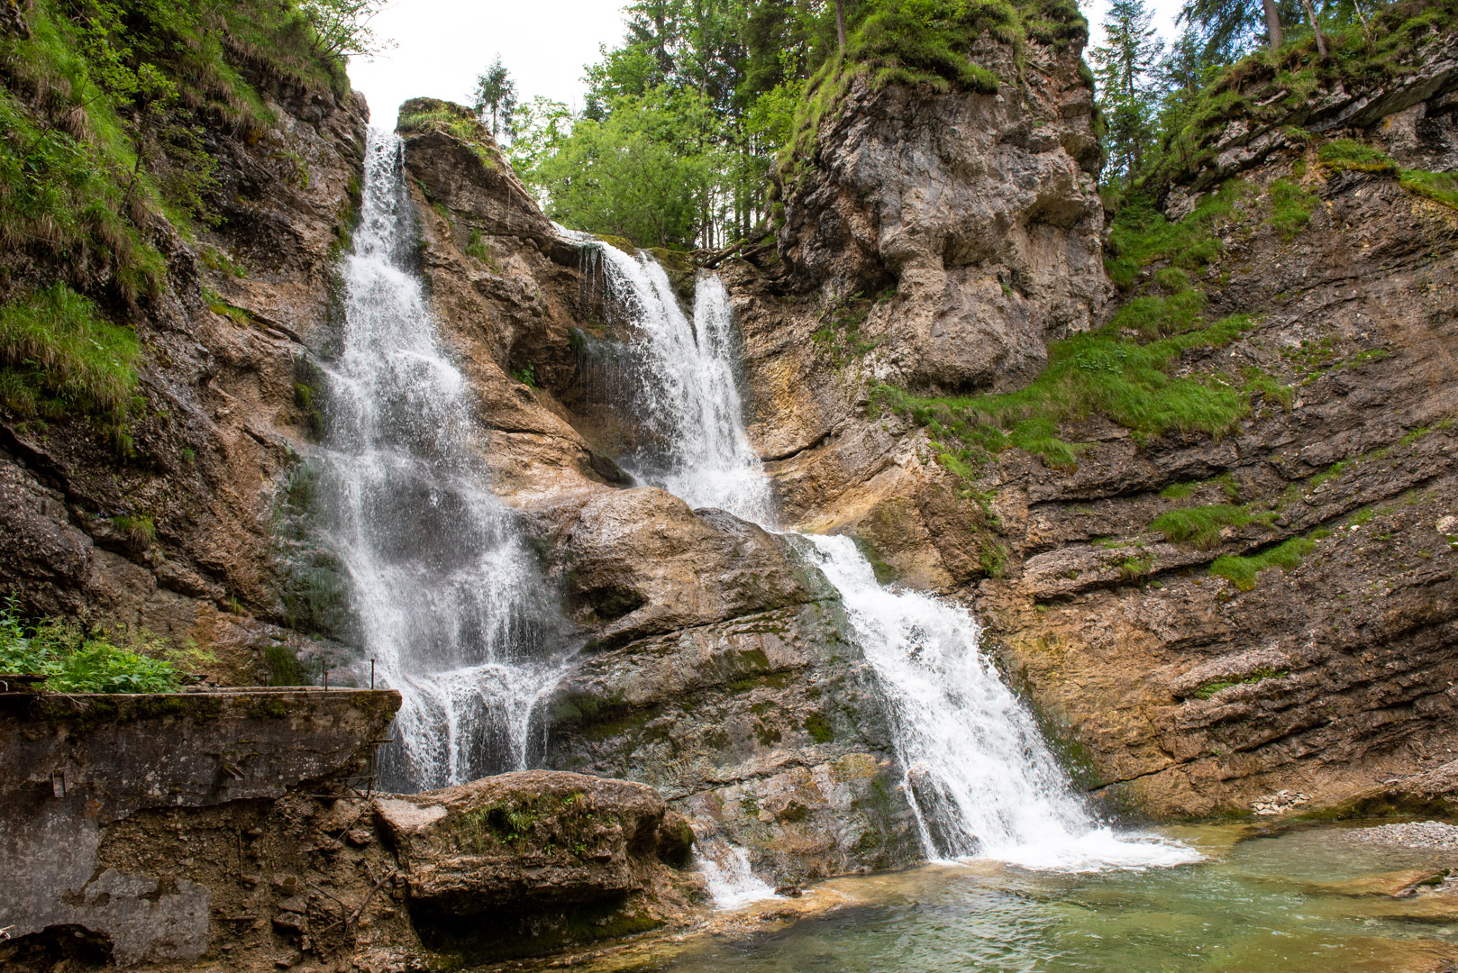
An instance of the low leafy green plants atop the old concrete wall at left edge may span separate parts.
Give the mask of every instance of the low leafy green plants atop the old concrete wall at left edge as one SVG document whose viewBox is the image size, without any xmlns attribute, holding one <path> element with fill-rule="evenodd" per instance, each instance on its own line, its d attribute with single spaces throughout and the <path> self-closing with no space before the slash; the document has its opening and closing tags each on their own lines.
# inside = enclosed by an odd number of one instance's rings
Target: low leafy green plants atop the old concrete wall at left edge
<svg viewBox="0 0 1458 973">
<path fill-rule="evenodd" d="M 125 629 L 26 626 L 13 597 L 0 608 L 0 672 L 45 675 L 57 693 L 175 693 L 181 678 L 165 655 L 166 643 Z"/>
</svg>

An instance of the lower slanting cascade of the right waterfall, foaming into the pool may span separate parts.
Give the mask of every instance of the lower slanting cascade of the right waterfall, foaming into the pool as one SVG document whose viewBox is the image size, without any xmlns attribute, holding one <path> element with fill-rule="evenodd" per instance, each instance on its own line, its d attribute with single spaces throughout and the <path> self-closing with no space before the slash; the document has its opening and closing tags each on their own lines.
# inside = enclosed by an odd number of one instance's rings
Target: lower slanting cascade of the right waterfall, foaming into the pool
<svg viewBox="0 0 1458 973">
<path fill-rule="evenodd" d="M 882 588 L 849 537 L 808 540 L 881 677 L 929 856 L 1073 871 L 1198 858 L 1178 845 L 1117 837 L 1094 820 L 1032 715 L 981 654 L 970 611 Z"/>
</svg>

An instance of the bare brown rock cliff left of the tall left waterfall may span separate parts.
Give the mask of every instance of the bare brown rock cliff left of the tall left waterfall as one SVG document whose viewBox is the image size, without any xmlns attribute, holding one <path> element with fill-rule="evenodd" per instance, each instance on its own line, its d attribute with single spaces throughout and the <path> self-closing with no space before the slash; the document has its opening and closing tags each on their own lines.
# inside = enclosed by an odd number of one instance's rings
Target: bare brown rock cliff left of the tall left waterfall
<svg viewBox="0 0 1458 973">
<path fill-rule="evenodd" d="M 0 591 L 28 611 L 191 639 L 216 652 L 214 678 L 258 683 L 265 646 L 308 645 L 273 519 L 311 438 L 300 362 L 328 319 L 367 109 L 239 67 L 276 121 L 246 139 L 204 130 L 222 222 L 192 242 L 156 230 L 165 286 L 130 314 L 144 404 L 128 454 L 85 417 L 0 414 Z M 149 519 L 155 537 L 118 518 Z"/>
</svg>

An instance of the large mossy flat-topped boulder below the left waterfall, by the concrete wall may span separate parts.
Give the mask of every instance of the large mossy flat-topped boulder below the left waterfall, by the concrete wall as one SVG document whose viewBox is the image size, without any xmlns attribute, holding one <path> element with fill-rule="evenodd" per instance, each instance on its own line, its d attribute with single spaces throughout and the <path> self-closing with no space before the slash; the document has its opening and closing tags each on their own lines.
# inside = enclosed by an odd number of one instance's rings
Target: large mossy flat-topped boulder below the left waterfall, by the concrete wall
<svg viewBox="0 0 1458 973">
<path fill-rule="evenodd" d="M 375 815 L 421 942 L 468 963 L 652 929 L 704 894 L 688 821 L 643 783 L 523 770 Z"/>
</svg>

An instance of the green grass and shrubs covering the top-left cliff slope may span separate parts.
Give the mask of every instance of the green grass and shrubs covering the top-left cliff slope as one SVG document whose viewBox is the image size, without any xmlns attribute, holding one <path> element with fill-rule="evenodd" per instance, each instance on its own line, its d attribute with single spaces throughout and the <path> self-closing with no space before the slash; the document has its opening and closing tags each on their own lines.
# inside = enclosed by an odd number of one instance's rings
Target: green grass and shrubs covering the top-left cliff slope
<svg viewBox="0 0 1458 973">
<path fill-rule="evenodd" d="M 162 287 L 156 242 L 216 223 L 207 131 L 273 112 L 243 69 L 347 89 L 359 0 L 34 0 L 0 31 L 0 406 L 92 417 L 124 454 L 141 346 L 115 324 Z M 241 274 L 217 251 L 203 260 Z"/>
</svg>

